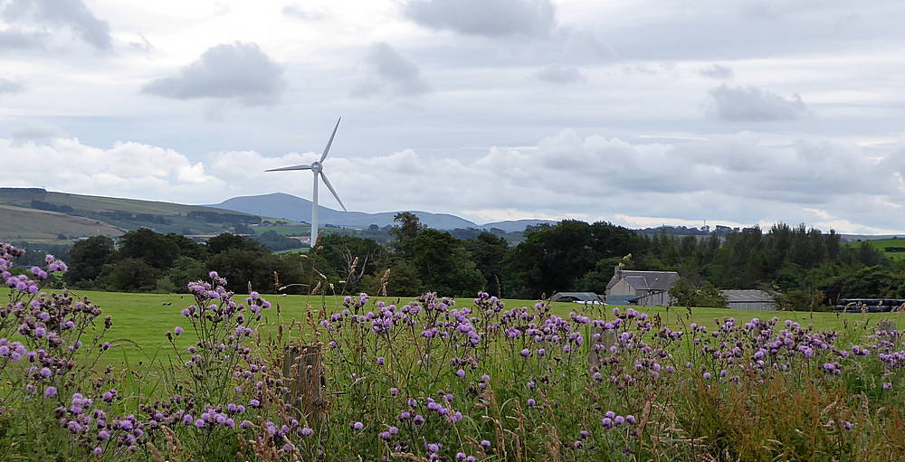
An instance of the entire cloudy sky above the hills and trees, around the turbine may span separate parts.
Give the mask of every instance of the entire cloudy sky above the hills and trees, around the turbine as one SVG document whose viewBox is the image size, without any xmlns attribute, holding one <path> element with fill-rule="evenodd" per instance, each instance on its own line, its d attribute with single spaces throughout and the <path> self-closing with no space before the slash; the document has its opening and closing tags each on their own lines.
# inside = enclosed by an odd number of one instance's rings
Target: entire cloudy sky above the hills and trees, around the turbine
<svg viewBox="0 0 905 462">
<path fill-rule="evenodd" d="M 905 3 L 0 0 L 0 187 L 905 231 Z M 338 208 L 321 189 L 320 203 Z"/>
</svg>

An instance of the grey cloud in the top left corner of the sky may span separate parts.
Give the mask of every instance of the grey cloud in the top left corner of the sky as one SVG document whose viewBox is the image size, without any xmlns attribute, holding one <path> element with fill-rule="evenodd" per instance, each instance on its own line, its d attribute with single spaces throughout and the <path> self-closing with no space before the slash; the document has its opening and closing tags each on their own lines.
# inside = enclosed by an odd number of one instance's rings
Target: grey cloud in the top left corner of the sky
<svg viewBox="0 0 905 462">
<path fill-rule="evenodd" d="M 108 51 L 113 46 L 110 24 L 91 13 L 81 0 L 11 0 L 0 15 L 9 22 L 68 28 L 100 51 Z"/>
</svg>

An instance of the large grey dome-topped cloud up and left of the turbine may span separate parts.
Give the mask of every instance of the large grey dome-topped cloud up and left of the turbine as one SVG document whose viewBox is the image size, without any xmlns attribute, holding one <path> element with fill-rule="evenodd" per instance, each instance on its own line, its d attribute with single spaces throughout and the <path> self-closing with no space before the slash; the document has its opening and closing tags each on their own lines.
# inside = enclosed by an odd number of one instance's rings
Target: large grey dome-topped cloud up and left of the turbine
<svg viewBox="0 0 905 462">
<path fill-rule="evenodd" d="M 284 87 L 282 68 L 255 43 L 224 43 L 207 49 L 172 77 L 142 89 L 175 99 L 235 99 L 245 105 L 273 103 Z"/>
</svg>

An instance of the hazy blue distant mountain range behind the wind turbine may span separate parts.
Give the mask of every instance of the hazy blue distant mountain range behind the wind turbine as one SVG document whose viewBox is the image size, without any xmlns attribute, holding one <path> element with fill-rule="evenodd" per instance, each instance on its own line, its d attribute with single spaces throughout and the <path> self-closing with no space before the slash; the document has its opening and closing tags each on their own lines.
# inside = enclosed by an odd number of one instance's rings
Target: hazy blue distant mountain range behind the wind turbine
<svg viewBox="0 0 905 462">
<path fill-rule="evenodd" d="M 252 213 L 254 215 L 268 216 L 273 218 L 283 218 L 295 222 L 311 221 L 311 202 L 307 199 L 286 194 L 272 193 L 262 195 L 251 195 L 243 197 L 233 197 L 222 203 L 207 205 L 207 207 L 215 207 L 218 209 L 231 210 L 234 212 Z M 464 218 L 450 215 L 448 213 L 431 213 L 421 211 L 400 211 L 412 212 L 418 216 L 421 222 L 431 228 L 437 230 L 453 230 L 456 228 L 481 228 L 477 223 L 465 220 Z M 357 228 L 367 227 L 376 224 L 381 228 L 386 225 L 392 225 L 393 217 L 399 212 L 342 212 L 329 209 L 323 205 L 318 206 L 318 220 L 324 224 L 334 224 L 337 226 L 352 226 Z"/>
</svg>

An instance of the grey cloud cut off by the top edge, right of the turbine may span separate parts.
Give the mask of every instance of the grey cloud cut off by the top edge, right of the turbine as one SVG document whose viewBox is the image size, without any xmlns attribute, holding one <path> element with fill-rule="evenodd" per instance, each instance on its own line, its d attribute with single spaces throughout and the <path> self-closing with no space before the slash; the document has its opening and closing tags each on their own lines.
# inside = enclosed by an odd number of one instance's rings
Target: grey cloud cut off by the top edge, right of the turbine
<svg viewBox="0 0 905 462">
<path fill-rule="evenodd" d="M 424 27 L 469 35 L 548 35 L 556 27 L 549 0 L 413 0 L 405 15 Z"/>
</svg>

